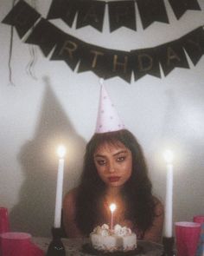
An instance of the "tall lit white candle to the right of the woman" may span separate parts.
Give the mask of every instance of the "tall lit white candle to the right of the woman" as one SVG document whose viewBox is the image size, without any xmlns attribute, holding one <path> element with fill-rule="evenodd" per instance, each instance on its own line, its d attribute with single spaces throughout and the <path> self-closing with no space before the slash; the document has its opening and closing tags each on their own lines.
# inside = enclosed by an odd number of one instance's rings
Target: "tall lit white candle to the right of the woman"
<svg viewBox="0 0 204 256">
<path fill-rule="evenodd" d="M 164 218 L 164 236 L 172 237 L 172 212 L 173 212 L 173 154 L 170 150 L 164 153 L 167 163 L 166 179 L 166 200 L 165 200 L 165 218 Z"/>
</svg>

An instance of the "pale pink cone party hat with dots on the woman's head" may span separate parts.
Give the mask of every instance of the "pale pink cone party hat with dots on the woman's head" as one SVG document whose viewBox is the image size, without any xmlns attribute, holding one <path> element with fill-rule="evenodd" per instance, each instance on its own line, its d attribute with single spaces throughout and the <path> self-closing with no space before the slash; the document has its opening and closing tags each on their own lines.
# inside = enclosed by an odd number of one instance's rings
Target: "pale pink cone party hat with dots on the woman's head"
<svg viewBox="0 0 204 256">
<path fill-rule="evenodd" d="M 103 134 L 108 132 L 114 132 L 124 129 L 124 124 L 118 116 L 116 108 L 112 104 L 112 101 L 105 90 L 105 86 L 100 80 L 100 99 L 99 99 L 99 110 L 96 125 L 96 133 Z"/>
</svg>

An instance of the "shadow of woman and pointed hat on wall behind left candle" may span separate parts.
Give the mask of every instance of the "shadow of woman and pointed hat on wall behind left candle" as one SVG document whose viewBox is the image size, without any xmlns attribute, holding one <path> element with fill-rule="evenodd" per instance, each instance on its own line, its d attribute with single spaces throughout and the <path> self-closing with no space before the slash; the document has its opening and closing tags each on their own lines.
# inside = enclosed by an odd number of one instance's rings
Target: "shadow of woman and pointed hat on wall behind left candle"
<svg viewBox="0 0 204 256">
<path fill-rule="evenodd" d="M 37 236 L 50 236 L 54 223 L 54 205 L 58 157 L 56 148 L 67 147 L 64 172 L 64 194 L 79 181 L 86 141 L 74 131 L 61 104 L 52 91 L 48 78 L 39 123 L 32 141 L 22 146 L 19 161 L 24 181 L 19 202 L 10 212 L 13 231 Z"/>
</svg>

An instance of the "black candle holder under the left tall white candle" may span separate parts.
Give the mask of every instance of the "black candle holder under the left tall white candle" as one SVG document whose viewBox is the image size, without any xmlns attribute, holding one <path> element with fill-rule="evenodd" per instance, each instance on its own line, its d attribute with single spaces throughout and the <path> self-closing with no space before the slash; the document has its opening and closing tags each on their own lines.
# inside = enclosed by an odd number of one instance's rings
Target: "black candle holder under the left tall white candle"
<svg viewBox="0 0 204 256">
<path fill-rule="evenodd" d="M 48 246 L 46 256 L 65 256 L 65 247 L 61 242 L 61 228 L 52 228 L 53 240 Z"/>
</svg>

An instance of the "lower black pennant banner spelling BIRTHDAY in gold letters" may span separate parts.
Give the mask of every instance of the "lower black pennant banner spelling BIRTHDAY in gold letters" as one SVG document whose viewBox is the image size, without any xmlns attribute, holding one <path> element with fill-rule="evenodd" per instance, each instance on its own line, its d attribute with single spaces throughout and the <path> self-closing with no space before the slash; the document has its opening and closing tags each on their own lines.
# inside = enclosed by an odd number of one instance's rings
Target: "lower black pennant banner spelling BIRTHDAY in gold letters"
<svg viewBox="0 0 204 256">
<path fill-rule="evenodd" d="M 104 79 L 119 76 L 124 81 L 131 82 L 132 73 L 135 81 L 143 75 L 161 78 L 161 69 L 165 76 L 175 68 L 189 69 L 186 54 L 194 65 L 204 54 L 203 27 L 154 48 L 124 51 L 106 49 L 68 35 L 47 19 L 42 18 L 24 1 L 16 3 L 3 19 L 3 23 L 14 26 L 20 38 L 29 32 L 25 43 L 38 45 L 44 56 L 48 56 L 53 50 L 51 61 L 64 61 L 72 70 L 79 64 L 76 70 L 78 73 L 92 71 Z"/>
</svg>

